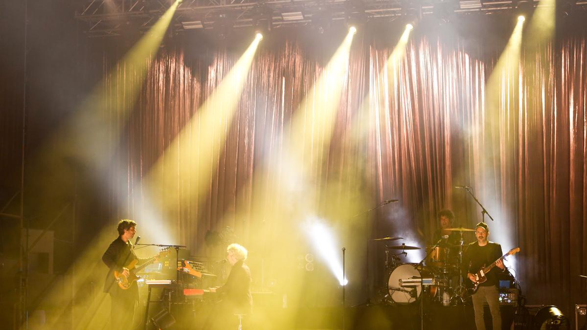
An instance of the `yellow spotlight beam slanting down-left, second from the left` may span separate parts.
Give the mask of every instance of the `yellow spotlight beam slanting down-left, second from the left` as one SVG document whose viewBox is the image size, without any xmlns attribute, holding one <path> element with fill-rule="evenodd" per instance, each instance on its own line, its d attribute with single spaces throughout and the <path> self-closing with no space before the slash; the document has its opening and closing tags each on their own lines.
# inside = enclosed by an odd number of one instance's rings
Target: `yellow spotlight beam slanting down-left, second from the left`
<svg viewBox="0 0 587 330">
<path fill-rule="evenodd" d="M 198 194 L 210 186 L 260 41 L 260 36 L 254 39 L 151 169 L 147 187 L 153 195 L 161 192 L 162 211 L 198 200 Z"/>
</svg>

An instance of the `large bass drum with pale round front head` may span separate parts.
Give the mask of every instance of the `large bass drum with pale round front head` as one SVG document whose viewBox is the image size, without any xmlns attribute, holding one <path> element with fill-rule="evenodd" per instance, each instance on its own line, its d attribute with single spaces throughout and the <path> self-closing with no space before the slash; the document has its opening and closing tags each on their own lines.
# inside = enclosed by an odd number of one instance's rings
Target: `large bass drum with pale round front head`
<svg viewBox="0 0 587 330">
<path fill-rule="evenodd" d="M 410 278 L 426 278 L 431 277 L 430 271 L 426 267 L 417 267 L 417 264 L 403 264 L 399 265 L 389 274 L 387 281 L 387 288 L 389 289 L 389 298 L 395 304 L 407 305 L 416 302 L 422 293 L 422 287 L 417 285 L 415 287 L 402 287 L 400 280 L 408 280 Z M 430 288 L 430 294 L 436 295 L 437 287 Z"/>
</svg>

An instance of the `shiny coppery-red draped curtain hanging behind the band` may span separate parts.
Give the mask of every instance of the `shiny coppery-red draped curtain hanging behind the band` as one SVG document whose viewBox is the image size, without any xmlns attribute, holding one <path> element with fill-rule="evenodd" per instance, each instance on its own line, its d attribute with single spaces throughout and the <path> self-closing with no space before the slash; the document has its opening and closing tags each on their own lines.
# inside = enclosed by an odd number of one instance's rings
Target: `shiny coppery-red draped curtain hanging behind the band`
<svg viewBox="0 0 587 330">
<path fill-rule="evenodd" d="M 458 43 L 423 38 L 410 41 L 397 70 L 390 71 L 384 70 L 389 48 L 356 39 L 333 138 L 315 158 L 304 160 L 311 179 L 302 188 L 318 191 L 317 208 L 326 210 L 322 214 L 346 241 L 353 240 L 345 227 L 352 222 L 333 220 L 344 217 L 332 204 L 360 196 L 370 208 L 398 198 L 370 214 L 364 223 L 369 236 L 398 235 L 406 244 L 423 246 L 442 208 L 452 208 L 464 227 L 481 221 L 477 204 L 454 188 L 471 186 L 495 219 L 486 219 L 490 240 L 504 252 L 521 248 L 513 268 L 528 303 L 559 305 L 570 314 L 574 304 L 585 303 L 579 274 L 587 272 L 586 40 L 566 39 L 532 55 L 522 51 L 527 58 L 515 75 L 505 74 L 507 85 L 495 99 L 499 106 L 486 107 L 494 61 L 476 58 Z M 108 191 L 120 183 L 121 173 L 125 181 L 123 194 L 110 193 L 113 216 L 133 217 L 163 195 L 183 197 L 181 177 L 176 191 L 146 191 L 142 180 L 238 59 L 222 50 L 187 54 L 161 50 L 128 121 L 104 109 L 112 126 L 125 132 L 112 161 L 116 166 L 103 180 Z M 297 213 L 284 208 L 275 217 L 275 210 L 268 215 L 263 209 L 294 203 L 269 187 L 291 180 L 284 141 L 299 137 L 290 130 L 292 117 L 311 113 L 298 105 L 325 59 L 295 40 L 258 50 L 234 119 L 222 132 L 224 145 L 210 160 L 215 170 L 207 188 L 190 196 L 190 203 L 166 206 L 178 243 L 207 254 L 205 233 L 225 226 L 255 254 L 272 254 L 275 244 L 288 240 L 284 235 L 291 234 Z M 105 65 L 104 73 L 109 69 Z M 2 93 L 12 88 L 1 86 Z M 18 113 L 11 113 L 1 115 L 2 127 L 19 122 Z M 16 150 L 14 144 L 0 143 L 3 158 Z M 329 198 L 333 191 L 335 200 Z M 354 239 L 349 244 L 364 245 L 363 237 Z M 275 258 L 267 257 L 264 267 L 271 268 Z"/>
</svg>

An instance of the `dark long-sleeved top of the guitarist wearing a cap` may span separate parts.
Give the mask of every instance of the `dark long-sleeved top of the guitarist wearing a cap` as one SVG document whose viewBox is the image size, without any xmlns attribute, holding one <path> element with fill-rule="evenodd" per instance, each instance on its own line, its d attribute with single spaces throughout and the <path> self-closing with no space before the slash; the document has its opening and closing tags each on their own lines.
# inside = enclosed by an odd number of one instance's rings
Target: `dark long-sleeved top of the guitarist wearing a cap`
<svg viewBox="0 0 587 330">
<path fill-rule="evenodd" d="M 493 242 L 488 242 L 483 247 L 479 246 L 478 242 L 473 242 L 468 245 L 467 251 L 463 256 L 463 267 L 464 274 L 467 272 L 475 274 L 480 271 L 481 268 L 487 267 L 492 264 L 495 260 L 498 260 L 503 255 L 501 251 L 501 245 Z M 485 274 L 487 281 L 480 284 L 482 287 L 488 287 L 490 285 L 498 285 L 498 274 L 502 270 L 497 266 L 493 267 L 491 271 Z"/>
</svg>

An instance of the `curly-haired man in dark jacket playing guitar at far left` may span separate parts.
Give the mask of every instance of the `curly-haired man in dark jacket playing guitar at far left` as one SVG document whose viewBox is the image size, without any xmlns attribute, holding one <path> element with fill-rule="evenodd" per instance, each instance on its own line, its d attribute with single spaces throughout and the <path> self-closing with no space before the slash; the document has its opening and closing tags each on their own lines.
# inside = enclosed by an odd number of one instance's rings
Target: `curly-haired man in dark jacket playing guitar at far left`
<svg viewBox="0 0 587 330">
<path fill-rule="evenodd" d="M 119 237 L 116 238 L 102 255 L 102 261 L 110 269 L 104 282 L 104 292 L 110 294 L 112 308 L 110 309 L 110 329 L 132 329 L 134 317 L 134 305 L 139 300 L 139 287 L 136 282 L 123 290 L 114 281 L 114 271 L 121 272 L 124 276 L 130 274 L 124 267 L 133 260 L 139 262 L 146 259 L 139 259 L 134 254 L 133 245 L 130 239 L 136 234 L 137 223 L 133 220 L 120 220 L 118 223 Z"/>
</svg>

